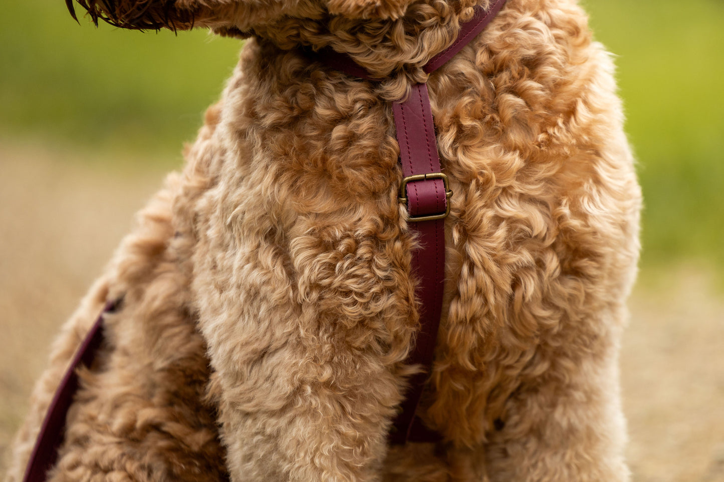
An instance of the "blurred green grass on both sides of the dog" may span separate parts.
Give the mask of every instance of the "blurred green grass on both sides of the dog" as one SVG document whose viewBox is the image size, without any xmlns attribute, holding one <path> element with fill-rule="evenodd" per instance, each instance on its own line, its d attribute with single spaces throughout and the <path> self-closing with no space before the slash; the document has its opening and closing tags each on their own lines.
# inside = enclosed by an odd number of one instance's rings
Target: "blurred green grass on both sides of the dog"
<svg viewBox="0 0 724 482">
<path fill-rule="evenodd" d="M 724 2 L 584 0 L 584 7 L 596 38 L 618 56 L 646 202 L 644 267 L 681 260 L 723 267 Z M 62 0 L 4 4 L 2 135 L 177 161 L 240 43 L 204 31 L 80 23 Z"/>
</svg>

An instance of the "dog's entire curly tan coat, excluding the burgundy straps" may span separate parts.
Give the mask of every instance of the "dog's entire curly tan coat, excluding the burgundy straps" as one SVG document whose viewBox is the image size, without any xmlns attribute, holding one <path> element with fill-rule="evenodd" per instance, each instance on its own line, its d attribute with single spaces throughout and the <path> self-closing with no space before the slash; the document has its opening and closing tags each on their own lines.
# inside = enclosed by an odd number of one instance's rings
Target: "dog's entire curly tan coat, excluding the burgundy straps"
<svg viewBox="0 0 724 482">
<path fill-rule="evenodd" d="M 85 7 L 134 27 L 132 3 Z M 251 38 L 182 174 L 64 327 L 7 480 L 120 295 L 51 481 L 627 480 L 617 353 L 641 200 L 613 64 L 576 2 L 508 0 L 429 79 L 473 0 L 151 3 L 135 28 Z M 418 316 L 387 101 L 424 80 L 455 192 L 419 412 L 444 441 L 390 448 Z"/>
</svg>

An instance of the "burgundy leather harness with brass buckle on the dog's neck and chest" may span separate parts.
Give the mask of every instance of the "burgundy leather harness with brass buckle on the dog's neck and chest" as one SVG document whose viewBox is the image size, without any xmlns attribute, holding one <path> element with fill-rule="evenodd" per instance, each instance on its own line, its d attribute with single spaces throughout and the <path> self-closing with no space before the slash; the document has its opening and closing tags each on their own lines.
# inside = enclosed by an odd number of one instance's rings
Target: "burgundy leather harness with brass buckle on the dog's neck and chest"
<svg viewBox="0 0 724 482">
<path fill-rule="evenodd" d="M 473 18 L 460 25 L 458 38 L 425 64 L 424 71 L 428 74 L 434 72 L 452 59 L 484 30 L 497 12 L 500 12 L 503 4 L 505 0 L 494 0 L 487 10 L 476 9 Z M 350 56 L 329 48 L 319 51 L 314 58 L 352 77 L 379 80 L 356 64 Z M 412 253 L 412 272 L 417 278 L 416 295 L 420 302 L 421 329 L 408 363 L 420 365 L 423 371 L 409 380 L 410 388 L 390 432 L 392 444 L 404 444 L 408 441 L 437 441 L 440 438 L 421 423 L 416 417 L 416 411 L 432 371 L 442 312 L 445 281 L 445 217 L 450 213 L 452 192 L 447 183 L 447 176 L 442 173 L 440 166 L 427 85 L 424 83 L 413 85 L 407 100 L 392 103 L 392 111 L 403 172 L 400 202 L 408 208 L 409 227 L 416 234 L 419 243 L 418 249 Z"/>
</svg>

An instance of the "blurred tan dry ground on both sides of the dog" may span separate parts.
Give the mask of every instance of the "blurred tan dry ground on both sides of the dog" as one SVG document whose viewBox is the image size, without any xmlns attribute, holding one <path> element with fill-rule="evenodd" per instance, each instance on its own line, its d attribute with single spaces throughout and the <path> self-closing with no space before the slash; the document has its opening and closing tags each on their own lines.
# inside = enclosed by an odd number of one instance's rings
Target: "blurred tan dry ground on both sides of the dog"
<svg viewBox="0 0 724 482">
<path fill-rule="evenodd" d="M 57 327 L 160 185 L 158 163 L 123 165 L 0 140 L 0 473 Z M 621 356 L 633 480 L 724 482 L 721 292 L 691 266 L 641 278 Z"/>
</svg>

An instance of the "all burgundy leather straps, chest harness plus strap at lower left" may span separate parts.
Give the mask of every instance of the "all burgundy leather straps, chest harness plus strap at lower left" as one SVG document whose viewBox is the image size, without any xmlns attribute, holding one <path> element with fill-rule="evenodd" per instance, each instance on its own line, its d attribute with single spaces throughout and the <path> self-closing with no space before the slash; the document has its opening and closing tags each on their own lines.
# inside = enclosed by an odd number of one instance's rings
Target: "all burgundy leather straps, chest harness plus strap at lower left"
<svg viewBox="0 0 724 482">
<path fill-rule="evenodd" d="M 455 42 L 434 56 L 424 66 L 424 71 L 431 73 L 452 59 L 461 48 L 481 33 L 503 4 L 505 0 L 494 0 L 489 9 L 477 9 L 473 19 L 460 26 L 460 34 Z M 345 54 L 324 50 L 313 56 L 314 59 L 353 77 L 381 80 L 372 77 Z M 421 303 L 421 331 L 408 362 L 421 365 L 423 371 L 409 381 L 410 389 L 390 432 L 391 443 L 404 444 L 408 441 L 439 439 L 437 434 L 422 425 L 416 417 L 416 410 L 431 371 L 442 310 L 445 218 L 450 213 L 452 192 L 447 176 L 440 166 L 427 85 L 413 85 L 408 99 L 393 103 L 392 111 L 395 115 L 395 130 L 397 143 L 400 144 L 400 165 L 403 171 L 399 200 L 408 208 L 408 223 L 413 232 L 416 232 L 419 242 L 419 248 L 412 253 L 412 270 L 418 283 L 416 295 Z M 35 441 L 25 470 L 24 482 L 46 480 L 46 473 L 56 461 L 57 450 L 63 439 L 67 410 L 77 389 L 77 368 L 92 363 L 103 340 L 104 313 L 112 312 L 117 307 L 117 302 L 106 305 L 67 368 Z"/>
</svg>

